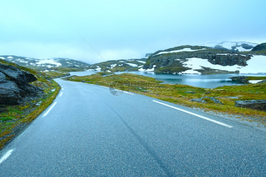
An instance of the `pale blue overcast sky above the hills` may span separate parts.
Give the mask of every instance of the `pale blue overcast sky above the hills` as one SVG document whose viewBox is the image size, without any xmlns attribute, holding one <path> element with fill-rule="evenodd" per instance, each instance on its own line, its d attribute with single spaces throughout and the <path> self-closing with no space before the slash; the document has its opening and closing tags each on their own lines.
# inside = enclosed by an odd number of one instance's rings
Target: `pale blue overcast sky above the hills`
<svg viewBox="0 0 266 177">
<path fill-rule="evenodd" d="M 180 45 L 266 42 L 265 0 L 1 1 L 0 55 L 89 64 Z M 82 36 L 88 44 L 80 37 Z"/>
</svg>

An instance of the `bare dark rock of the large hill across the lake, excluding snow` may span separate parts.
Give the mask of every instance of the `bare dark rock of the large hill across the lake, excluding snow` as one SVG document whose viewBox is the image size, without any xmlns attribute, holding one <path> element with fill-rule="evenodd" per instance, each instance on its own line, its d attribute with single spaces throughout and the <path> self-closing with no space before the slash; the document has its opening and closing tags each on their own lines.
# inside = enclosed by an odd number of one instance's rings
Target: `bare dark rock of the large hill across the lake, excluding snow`
<svg viewBox="0 0 266 177">
<path fill-rule="evenodd" d="M 174 50 L 181 50 L 183 48 L 191 48 L 191 50 L 195 50 L 193 52 L 183 51 L 176 53 L 161 53 L 160 52 L 169 52 Z M 154 65 L 155 71 L 161 72 L 169 72 L 169 73 L 178 73 L 188 70 L 189 68 L 184 68 L 183 63 L 188 61 L 188 58 L 201 58 L 207 59 L 213 65 L 221 65 L 221 66 L 247 66 L 247 61 L 251 59 L 250 55 L 242 55 L 232 51 L 218 50 L 204 46 L 179 46 L 175 48 L 169 48 L 163 51 L 157 51 L 151 56 L 149 56 L 146 64 L 143 66 L 143 69 L 152 69 Z M 227 74 L 227 73 L 239 73 L 235 72 L 226 72 L 216 73 L 211 71 L 214 74 Z M 204 73 L 205 74 L 205 73 Z"/>
</svg>

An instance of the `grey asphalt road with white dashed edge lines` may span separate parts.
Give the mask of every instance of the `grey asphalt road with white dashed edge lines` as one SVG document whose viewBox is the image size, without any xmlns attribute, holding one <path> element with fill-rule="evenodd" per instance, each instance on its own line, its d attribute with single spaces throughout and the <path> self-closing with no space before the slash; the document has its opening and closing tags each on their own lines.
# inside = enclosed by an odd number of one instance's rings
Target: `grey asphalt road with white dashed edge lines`
<svg viewBox="0 0 266 177">
<path fill-rule="evenodd" d="M 264 131 L 144 95 L 56 81 L 54 103 L 0 154 L 1 177 L 266 176 Z"/>
</svg>

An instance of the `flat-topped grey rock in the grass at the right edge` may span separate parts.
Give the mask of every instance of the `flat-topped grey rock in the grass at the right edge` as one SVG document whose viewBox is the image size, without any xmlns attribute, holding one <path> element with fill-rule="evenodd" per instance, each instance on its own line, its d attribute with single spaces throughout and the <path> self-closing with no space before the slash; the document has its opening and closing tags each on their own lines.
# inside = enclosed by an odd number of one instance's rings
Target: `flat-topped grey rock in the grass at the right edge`
<svg viewBox="0 0 266 177">
<path fill-rule="evenodd" d="M 238 100 L 234 102 L 235 107 L 244 107 L 244 108 L 250 108 L 250 109 L 256 109 L 261 111 L 266 111 L 266 100 L 260 99 L 260 100 Z"/>
</svg>

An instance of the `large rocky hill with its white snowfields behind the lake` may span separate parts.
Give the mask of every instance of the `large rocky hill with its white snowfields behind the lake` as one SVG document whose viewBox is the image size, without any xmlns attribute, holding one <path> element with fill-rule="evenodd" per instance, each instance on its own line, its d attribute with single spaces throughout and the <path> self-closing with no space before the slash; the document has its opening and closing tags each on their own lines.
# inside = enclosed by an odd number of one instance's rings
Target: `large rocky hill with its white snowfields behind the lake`
<svg viewBox="0 0 266 177">
<path fill-rule="evenodd" d="M 265 73 L 266 53 L 234 52 L 206 46 L 179 46 L 160 50 L 139 71 L 176 74 Z"/>
</svg>

